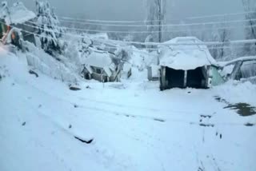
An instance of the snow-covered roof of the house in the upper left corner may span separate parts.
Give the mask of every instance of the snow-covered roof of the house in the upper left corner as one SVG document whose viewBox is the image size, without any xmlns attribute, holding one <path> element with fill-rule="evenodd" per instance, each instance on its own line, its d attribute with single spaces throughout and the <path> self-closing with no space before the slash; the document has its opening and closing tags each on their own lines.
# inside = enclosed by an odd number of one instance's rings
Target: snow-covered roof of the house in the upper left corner
<svg viewBox="0 0 256 171">
<path fill-rule="evenodd" d="M 2 2 L 0 18 L 4 19 L 7 25 L 27 22 L 35 17 L 34 12 L 27 10 L 22 2 L 15 2 L 10 7 L 8 7 L 7 2 Z"/>
</svg>

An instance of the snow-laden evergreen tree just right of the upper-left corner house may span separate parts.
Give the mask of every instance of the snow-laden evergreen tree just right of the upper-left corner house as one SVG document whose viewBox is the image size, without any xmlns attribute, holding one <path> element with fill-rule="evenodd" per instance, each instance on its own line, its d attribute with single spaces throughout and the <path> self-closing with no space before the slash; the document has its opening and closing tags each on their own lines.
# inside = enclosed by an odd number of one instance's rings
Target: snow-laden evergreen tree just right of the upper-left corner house
<svg viewBox="0 0 256 171">
<path fill-rule="evenodd" d="M 59 38 L 62 37 L 64 30 L 59 26 L 54 9 L 49 2 L 36 1 L 36 12 L 42 49 L 51 55 L 61 54 Z"/>
</svg>

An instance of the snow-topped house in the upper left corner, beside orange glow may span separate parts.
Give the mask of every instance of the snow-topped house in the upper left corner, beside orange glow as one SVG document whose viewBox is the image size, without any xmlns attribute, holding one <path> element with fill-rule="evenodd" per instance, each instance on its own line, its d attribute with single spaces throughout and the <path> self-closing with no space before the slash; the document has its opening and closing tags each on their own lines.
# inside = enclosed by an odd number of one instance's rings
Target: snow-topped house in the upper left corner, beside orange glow
<svg viewBox="0 0 256 171">
<path fill-rule="evenodd" d="M 13 6 L 8 6 L 7 2 L 2 2 L 0 7 L 0 38 L 3 43 L 17 43 L 19 37 L 23 40 L 35 43 L 33 24 L 36 15 L 27 10 L 22 2 L 15 2 Z M 20 34 L 18 34 L 20 30 Z"/>
</svg>

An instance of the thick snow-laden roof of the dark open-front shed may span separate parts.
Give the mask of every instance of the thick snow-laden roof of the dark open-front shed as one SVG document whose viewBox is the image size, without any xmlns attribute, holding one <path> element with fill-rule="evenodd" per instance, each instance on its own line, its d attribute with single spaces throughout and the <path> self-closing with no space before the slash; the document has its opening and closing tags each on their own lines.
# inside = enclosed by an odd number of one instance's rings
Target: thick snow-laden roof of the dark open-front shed
<svg viewBox="0 0 256 171">
<path fill-rule="evenodd" d="M 216 65 L 207 46 L 204 45 L 173 45 L 165 44 L 193 44 L 203 43 L 198 38 L 174 38 L 162 43 L 160 49 L 160 66 L 167 66 L 174 70 L 194 70 L 202 66 Z"/>
</svg>

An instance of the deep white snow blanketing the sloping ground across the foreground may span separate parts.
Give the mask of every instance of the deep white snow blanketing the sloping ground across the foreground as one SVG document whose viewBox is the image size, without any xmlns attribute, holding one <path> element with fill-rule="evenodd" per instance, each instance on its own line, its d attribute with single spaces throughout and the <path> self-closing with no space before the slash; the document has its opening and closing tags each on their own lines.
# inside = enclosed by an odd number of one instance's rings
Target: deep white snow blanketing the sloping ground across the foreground
<svg viewBox="0 0 256 171">
<path fill-rule="evenodd" d="M 256 126 L 246 126 L 256 115 L 215 99 L 255 106 L 255 85 L 161 92 L 134 68 L 122 83 L 71 91 L 29 70 L 24 56 L 0 49 L 2 171 L 256 170 Z"/>
</svg>

